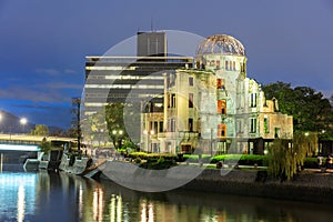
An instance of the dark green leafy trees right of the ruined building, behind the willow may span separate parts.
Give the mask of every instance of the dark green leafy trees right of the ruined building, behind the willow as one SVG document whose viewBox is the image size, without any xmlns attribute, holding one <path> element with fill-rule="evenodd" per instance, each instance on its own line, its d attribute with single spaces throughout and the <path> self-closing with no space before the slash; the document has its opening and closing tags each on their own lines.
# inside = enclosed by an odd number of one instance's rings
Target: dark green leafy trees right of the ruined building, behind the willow
<svg viewBox="0 0 333 222">
<path fill-rule="evenodd" d="M 330 100 L 309 87 L 292 88 L 278 81 L 263 85 L 268 99 L 276 98 L 279 110 L 293 115 L 294 131 L 319 132 L 320 138 L 333 138 L 333 111 Z"/>
</svg>

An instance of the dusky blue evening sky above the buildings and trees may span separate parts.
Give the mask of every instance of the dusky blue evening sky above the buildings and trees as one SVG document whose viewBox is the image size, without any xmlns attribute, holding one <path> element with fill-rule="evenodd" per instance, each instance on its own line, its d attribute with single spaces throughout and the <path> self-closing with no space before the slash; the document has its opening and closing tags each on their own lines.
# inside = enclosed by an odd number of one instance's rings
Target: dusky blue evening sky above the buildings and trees
<svg viewBox="0 0 333 222">
<path fill-rule="evenodd" d="M 0 0 L 0 110 L 70 127 L 84 57 L 103 54 L 138 30 L 238 38 L 248 75 L 333 93 L 331 0 Z"/>
</svg>

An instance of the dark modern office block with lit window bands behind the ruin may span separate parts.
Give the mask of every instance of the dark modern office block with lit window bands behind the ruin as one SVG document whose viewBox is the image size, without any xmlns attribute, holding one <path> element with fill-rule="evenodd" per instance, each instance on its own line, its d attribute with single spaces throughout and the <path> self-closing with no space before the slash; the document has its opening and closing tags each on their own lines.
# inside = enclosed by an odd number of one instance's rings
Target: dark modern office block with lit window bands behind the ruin
<svg viewBox="0 0 333 222">
<path fill-rule="evenodd" d="M 103 112 L 107 104 L 127 103 L 137 110 L 129 111 L 132 113 L 125 119 L 131 119 L 128 120 L 130 125 L 121 130 L 127 130 L 133 142 L 139 143 L 140 133 L 143 131 L 141 112 L 163 112 L 163 74 L 174 72 L 176 69 L 192 68 L 194 59 L 169 57 L 164 32 L 138 32 L 137 44 L 137 57 L 85 57 L 82 119 Z M 108 134 L 105 129 L 94 130 Z M 84 131 L 85 134 L 101 134 L 90 132 L 92 131 L 90 125 L 87 125 Z"/>
</svg>

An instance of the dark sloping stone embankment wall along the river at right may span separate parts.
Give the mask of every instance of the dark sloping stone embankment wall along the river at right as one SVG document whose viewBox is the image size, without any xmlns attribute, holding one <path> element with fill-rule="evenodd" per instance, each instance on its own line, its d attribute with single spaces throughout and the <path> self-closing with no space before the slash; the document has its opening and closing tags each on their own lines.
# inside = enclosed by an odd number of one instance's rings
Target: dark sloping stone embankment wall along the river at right
<svg viewBox="0 0 333 222">
<path fill-rule="evenodd" d="M 266 179 L 260 171 L 206 169 L 184 189 L 282 200 L 333 203 L 333 174 L 302 172 L 293 181 Z"/>
</svg>

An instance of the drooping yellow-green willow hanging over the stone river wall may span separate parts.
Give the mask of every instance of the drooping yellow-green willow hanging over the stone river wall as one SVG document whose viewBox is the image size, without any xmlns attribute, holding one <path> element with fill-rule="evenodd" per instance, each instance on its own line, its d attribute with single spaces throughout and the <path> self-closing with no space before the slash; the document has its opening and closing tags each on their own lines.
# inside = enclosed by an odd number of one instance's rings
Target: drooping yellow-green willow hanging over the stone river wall
<svg viewBox="0 0 333 222">
<path fill-rule="evenodd" d="M 292 145 L 286 140 L 275 139 L 269 148 L 269 173 L 281 180 L 291 180 L 304 165 L 305 158 L 316 150 L 316 133 L 296 132 Z"/>
</svg>

